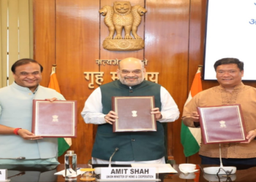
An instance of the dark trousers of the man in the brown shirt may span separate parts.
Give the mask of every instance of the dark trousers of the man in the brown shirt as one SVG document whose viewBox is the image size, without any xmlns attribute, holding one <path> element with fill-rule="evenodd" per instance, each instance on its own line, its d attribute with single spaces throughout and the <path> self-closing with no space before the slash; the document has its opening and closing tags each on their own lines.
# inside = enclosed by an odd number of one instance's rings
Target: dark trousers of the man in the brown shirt
<svg viewBox="0 0 256 182">
<path fill-rule="evenodd" d="M 220 165 L 219 158 L 205 157 L 201 156 L 201 164 L 202 165 Z M 223 166 L 230 165 L 256 165 L 256 158 L 247 158 L 247 159 L 223 159 Z"/>
</svg>

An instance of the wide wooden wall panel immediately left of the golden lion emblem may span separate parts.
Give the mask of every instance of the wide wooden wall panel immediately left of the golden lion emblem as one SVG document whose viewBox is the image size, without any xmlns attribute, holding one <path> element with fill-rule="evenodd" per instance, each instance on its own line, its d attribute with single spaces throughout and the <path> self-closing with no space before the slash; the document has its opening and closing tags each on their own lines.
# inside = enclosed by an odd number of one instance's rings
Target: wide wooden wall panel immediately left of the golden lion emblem
<svg viewBox="0 0 256 182">
<path fill-rule="evenodd" d="M 98 71 L 99 1 L 56 0 L 56 64 L 61 93 L 68 100 L 78 100 L 78 138 L 71 149 L 78 163 L 91 159 L 93 125 L 85 124 L 80 112 L 91 94 L 83 72 Z M 64 161 L 64 160 L 63 160 Z M 61 162 L 61 159 L 60 159 Z"/>
</svg>

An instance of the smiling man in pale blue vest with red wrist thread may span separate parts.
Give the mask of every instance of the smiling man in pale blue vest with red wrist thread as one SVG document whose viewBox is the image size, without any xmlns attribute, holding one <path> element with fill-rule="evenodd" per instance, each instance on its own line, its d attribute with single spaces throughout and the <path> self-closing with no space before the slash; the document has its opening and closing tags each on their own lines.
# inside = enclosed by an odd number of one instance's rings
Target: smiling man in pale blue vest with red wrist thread
<svg viewBox="0 0 256 182">
<path fill-rule="evenodd" d="M 39 86 L 42 66 L 34 60 L 18 60 L 12 73 L 15 82 L 0 89 L 0 164 L 58 164 L 57 138 L 31 133 L 32 101 L 64 97 L 56 90 Z M 9 159 L 17 157 L 26 159 Z"/>
</svg>

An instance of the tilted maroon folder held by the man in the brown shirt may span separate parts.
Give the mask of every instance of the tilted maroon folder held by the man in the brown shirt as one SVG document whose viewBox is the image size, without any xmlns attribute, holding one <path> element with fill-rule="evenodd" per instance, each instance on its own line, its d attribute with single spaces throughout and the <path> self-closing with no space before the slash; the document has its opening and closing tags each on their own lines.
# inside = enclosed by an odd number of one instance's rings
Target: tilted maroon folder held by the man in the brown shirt
<svg viewBox="0 0 256 182">
<path fill-rule="evenodd" d="M 240 104 L 197 107 L 203 143 L 230 143 L 246 140 Z"/>
</svg>

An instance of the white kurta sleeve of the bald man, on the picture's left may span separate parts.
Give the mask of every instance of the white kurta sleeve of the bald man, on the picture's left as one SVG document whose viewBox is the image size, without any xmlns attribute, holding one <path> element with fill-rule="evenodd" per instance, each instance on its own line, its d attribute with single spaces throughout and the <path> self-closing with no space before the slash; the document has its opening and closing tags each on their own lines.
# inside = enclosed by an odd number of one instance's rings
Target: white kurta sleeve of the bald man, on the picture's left
<svg viewBox="0 0 256 182">
<path fill-rule="evenodd" d="M 106 123 L 104 119 L 105 114 L 102 114 L 102 93 L 99 87 L 86 100 L 81 115 L 87 124 Z"/>
</svg>

